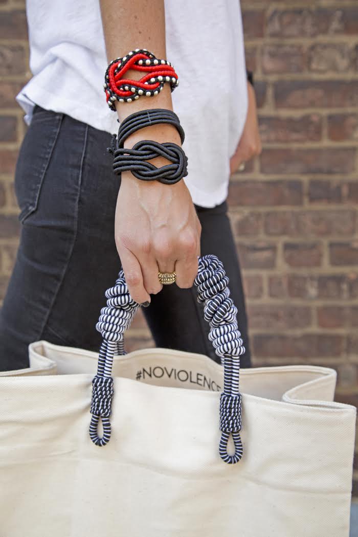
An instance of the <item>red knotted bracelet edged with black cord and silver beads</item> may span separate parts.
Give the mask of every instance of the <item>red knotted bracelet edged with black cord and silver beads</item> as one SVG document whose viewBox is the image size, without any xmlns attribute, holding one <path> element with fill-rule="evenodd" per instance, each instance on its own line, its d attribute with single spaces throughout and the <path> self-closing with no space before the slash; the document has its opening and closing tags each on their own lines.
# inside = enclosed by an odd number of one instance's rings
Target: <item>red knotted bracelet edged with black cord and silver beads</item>
<svg viewBox="0 0 358 537">
<path fill-rule="evenodd" d="M 140 80 L 124 78 L 129 69 L 144 71 Z M 104 90 L 109 108 L 115 111 L 114 101 L 130 103 L 141 96 L 153 97 L 162 91 L 164 84 L 170 83 L 171 91 L 179 84 L 178 75 L 172 64 L 159 60 L 146 48 L 136 48 L 109 63 L 105 75 Z"/>
</svg>

